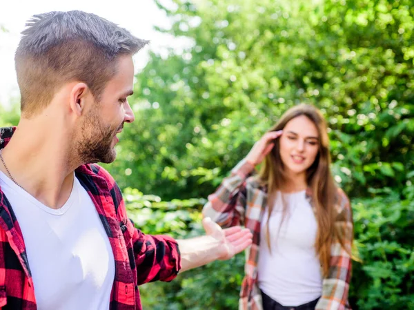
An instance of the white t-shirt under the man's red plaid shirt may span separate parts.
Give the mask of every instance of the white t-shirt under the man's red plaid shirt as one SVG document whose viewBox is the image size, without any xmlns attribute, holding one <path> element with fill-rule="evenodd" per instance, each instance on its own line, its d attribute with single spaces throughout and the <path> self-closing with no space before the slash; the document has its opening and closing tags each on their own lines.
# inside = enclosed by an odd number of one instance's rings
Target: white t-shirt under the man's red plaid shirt
<svg viewBox="0 0 414 310">
<path fill-rule="evenodd" d="M 115 260 L 95 205 L 77 178 L 66 204 L 51 209 L 0 172 L 19 222 L 39 310 L 108 310 Z"/>
</svg>

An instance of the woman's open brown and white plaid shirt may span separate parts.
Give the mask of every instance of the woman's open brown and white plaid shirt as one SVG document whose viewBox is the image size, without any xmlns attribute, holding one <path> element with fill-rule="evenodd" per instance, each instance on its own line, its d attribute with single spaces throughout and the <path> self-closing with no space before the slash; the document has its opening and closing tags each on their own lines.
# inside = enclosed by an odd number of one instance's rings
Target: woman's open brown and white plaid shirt
<svg viewBox="0 0 414 310">
<path fill-rule="evenodd" d="M 253 244 L 246 251 L 245 278 L 240 292 L 240 310 L 263 310 L 262 296 L 257 287 L 257 262 L 260 242 L 260 220 L 267 203 L 266 188 L 259 186 L 254 177 L 249 177 L 254 167 L 240 162 L 229 177 L 226 177 L 217 191 L 208 196 L 204 206 L 204 216 L 210 217 L 223 227 L 244 225 L 253 233 Z M 310 191 L 306 197 L 312 205 Z M 353 240 L 353 219 L 348 197 L 338 189 L 337 220 L 335 226 L 344 235 L 346 248 L 351 249 Z M 322 297 L 316 310 L 350 310 L 348 289 L 351 280 L 351 257 L 348 252 L 333 240 L 331 246 L 331 267 L 322 282 Z"/>
</svg>

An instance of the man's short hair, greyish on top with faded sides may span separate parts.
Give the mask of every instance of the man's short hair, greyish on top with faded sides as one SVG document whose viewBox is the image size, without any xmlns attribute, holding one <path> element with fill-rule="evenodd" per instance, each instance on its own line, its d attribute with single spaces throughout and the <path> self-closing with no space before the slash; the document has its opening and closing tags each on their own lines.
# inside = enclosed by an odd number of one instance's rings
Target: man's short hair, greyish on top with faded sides
<svg viewBox="0 0 414 310">
<path fill-rule="evenodd" d="M 21 113 L 43 110 L 69 81 L 82 81 L 95 99 L 116 74 L 117 57 L 134 55 L 148 41 L 95 14 L 81 11 L 34 15 L 16 50 Z"/>
</svg>

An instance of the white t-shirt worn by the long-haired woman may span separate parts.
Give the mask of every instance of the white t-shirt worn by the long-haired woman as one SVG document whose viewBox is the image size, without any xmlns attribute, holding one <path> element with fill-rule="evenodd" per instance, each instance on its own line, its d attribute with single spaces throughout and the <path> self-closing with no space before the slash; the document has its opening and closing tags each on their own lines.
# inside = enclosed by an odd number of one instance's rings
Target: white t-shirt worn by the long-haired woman
<svg viewBox="0 0 414 310">
<path fill-rule="evenodd" d="M 305 191 L 284 194 L 287 213 L 282 222 L 282 195 L 277 193 L 270 215 L 270 246 L 266 239 L 268 208 L 261 222 L 259 288 L 284 306 L 299 306 L 322 295 L 322 274 L 315 250 L 317 221 Z"/>
</svg>

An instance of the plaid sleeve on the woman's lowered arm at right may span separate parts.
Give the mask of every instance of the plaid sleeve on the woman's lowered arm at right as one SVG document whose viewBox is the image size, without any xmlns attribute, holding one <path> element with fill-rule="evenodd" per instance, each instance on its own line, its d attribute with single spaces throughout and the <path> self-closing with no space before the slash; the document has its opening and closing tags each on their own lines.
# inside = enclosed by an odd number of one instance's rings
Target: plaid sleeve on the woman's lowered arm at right
<svg viewBox="0 0 414 310">
<path fill-rule="evenodd" d="M 343 246 L 334 240 L 331 246 L 331 268 L 322 282 L 322 297 L 315 310 L 348 310 L 349 282 L 351 280 L 351 247 L 353 242 L 353 217 L 348 197 L 338 190 L 337 220 L 335 228 L 344 237 Z"/>
</svg>

